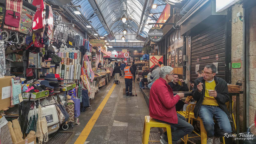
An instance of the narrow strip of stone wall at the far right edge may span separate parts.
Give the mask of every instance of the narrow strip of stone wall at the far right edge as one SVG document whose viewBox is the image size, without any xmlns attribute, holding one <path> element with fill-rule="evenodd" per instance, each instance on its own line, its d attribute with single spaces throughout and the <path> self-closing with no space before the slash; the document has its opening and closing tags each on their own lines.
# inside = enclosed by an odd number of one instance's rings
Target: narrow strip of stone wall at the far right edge
<svg viewBox="0 0 256 144">
<path fill-rule="evenodd" d="M 256 114 L 256 6 L 249 15 L 249 126 L 254 123 Z M 253 126 L 251 132 L 256 134 Z"/>
</svg>

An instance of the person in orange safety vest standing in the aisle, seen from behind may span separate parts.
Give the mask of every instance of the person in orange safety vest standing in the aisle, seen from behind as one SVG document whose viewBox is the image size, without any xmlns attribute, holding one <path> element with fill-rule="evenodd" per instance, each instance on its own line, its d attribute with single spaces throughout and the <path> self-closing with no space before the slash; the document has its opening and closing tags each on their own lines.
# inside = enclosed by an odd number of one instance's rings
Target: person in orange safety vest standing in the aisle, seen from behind
<svg viewBox="0 0 256 144">
<path fill-rule="evenodd" d="M 131 67 L 131 63 L 128 63 L 124 68 L 124 81 L 125 81 L 125 92 L 126 96 L 134 96 L 132 95 L 132 74 L 134 73 L 133 68 Z"/>
</svg>

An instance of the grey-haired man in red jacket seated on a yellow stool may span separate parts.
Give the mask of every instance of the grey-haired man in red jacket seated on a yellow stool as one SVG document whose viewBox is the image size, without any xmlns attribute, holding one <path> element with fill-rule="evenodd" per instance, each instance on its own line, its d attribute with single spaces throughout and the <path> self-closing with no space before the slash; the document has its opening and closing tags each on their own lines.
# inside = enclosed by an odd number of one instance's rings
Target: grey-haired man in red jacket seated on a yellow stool
<svg viewBox="0 0 256 144">
<path fill-rule="evenodd" d="M 173 80 L 173 68 L 164 66 L 160 69 L 160 78 L 154 82 L 150 89 L 149 115 L 156 121 L 171 125 L 172 143 L 177 143 L 180 138 L 191 133 L 194 127 L 177 116 L 175 104 L 183 93 L 173 96 L 172 88 L 167 84 Z M 162 144 L 168 144 L 167 134 L 160 140 Z"/>
</svg>

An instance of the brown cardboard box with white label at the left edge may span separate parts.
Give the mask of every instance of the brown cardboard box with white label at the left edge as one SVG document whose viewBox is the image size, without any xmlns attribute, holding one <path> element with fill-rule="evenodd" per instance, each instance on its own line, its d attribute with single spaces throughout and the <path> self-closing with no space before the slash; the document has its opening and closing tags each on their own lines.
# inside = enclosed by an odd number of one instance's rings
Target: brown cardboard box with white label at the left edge
<svg viewBox="0 0 256 144">
<path fill-rule="evenodd" d="M 11 78 L 13 76 L 4 76 L 0 78 L 0 110 L 11 106 Z"/>
</svg>

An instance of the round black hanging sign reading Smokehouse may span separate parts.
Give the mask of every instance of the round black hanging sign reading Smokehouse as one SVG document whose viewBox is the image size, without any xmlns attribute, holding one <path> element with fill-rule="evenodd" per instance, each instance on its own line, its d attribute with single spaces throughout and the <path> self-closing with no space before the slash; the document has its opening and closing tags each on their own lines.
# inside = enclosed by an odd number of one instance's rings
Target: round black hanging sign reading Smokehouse
<svg viewBox="0 0 256 144">
<path fill-rule="evenodd" d="M 163 30 L 159 27 L 152 27 L 148 31 L 149 40 L 152 42 L 159 42 L 164 36 Z"/>
</svg>

